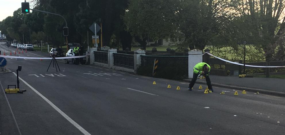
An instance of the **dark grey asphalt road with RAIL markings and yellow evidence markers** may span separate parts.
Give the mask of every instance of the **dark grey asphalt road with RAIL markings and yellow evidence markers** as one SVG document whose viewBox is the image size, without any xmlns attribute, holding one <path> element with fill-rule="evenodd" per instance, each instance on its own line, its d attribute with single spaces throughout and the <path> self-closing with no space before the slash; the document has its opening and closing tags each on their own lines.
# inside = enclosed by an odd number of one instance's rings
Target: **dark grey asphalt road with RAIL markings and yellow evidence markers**
<svg viewBox="0 0 285 135">
<path fill-rule="evenodd" d="M 9 49 L 0 44 L 2 52 Z M 34 51 L 17 55 L 48 57 L 47 53 Z M 184 82 L 63 61 L 58 61 L 61 72 L 53 67 L 47 72 L 49 63 L 50 60 L 8 59 L 7 68 L 12 72 L 0 73 L 5 89 L 8 84 L 16 84 L 13 72 L 22 65 L 20 89 L 27 91 L 6 94 L 22 135 L 283 135 L 285 132 L 282 97 L 240 91 L 235 96 L 234 90 L 217 87 L 213 93 L 204 94 L 198 84 L 188 91 Z M 167 88 L 168 84 L 172 88 Z M 176 90 L 177 86 L 181 90 Z M 220 94 L 222 91 L 225 94 Z M 2 93 L 1 98 L 5 97 Z M 11 130 L 19 134 L 5 100 L 0 101 L 3 102 L 0 111 L 6 112 L 0 116 L 1 135 Z"/>
</svg>

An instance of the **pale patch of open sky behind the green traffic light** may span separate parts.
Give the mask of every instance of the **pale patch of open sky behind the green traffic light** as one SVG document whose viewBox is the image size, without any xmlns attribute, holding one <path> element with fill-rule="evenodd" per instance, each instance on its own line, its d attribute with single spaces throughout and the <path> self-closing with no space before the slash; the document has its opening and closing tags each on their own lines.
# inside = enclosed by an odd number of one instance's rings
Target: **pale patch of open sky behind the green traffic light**
<svg viewBox="0 0 285 135">
<path fill-rule="evenodd" d="M 29 2 L 30 0 L 26 1 Z M 8 16 L 13 16 L 14 11 L 21 7 L 22 2 L 25 2 L 25 0 L 0 0 L 0 21 Z"/>
</svg>

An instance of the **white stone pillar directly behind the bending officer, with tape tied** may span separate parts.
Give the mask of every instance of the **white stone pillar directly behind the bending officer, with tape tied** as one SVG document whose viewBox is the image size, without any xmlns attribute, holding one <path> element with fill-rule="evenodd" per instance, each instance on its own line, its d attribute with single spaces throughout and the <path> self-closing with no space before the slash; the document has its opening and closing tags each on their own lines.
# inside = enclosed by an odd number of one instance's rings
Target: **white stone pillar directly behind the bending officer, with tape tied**
<svg viewBox="0 0 285 135">
<path fill-rule="evenodd" d="M 188 52 L 188 78 L 193 78 L 193 68 L 194 66 L 202 62 L 203 55 L 202 51 L 195 49 Z"/>
</svg>

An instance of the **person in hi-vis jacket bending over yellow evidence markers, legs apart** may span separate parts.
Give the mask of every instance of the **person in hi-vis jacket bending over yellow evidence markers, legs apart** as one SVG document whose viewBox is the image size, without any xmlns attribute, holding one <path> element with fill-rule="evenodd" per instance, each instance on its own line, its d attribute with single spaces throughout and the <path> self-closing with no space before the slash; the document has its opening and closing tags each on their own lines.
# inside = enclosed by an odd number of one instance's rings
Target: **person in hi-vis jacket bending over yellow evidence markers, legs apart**
<svg viewBox="0 0 285 135">
<path fill-rule="evenodd" d="M 205 76 L 205 78 L 206 78 L 206 82 L 207 82 L 209 90 L 211 90 L 213 92 L 213 88 L 212 88 L 212 85 L 211 85 L 211 80 L 209 78 L 209 72 L 211 70 L 210 65 L 208 65 L 205 62 L 200 62 L 200 63 L 197 63 L 195 65 L 193 70 L 194 70 L 193 78 L 192 78 L 192 80 L 191 80 L 191 82 L 189 84 L 188 90 L 192 90 L 192 88 L 193 88 L 193 86 L 194 86 L 194 84 L 195 84 L 195 82 L 197 80 L 197 77 L 199 75 L 202 75 L 202 76 Z"/>
</svg>

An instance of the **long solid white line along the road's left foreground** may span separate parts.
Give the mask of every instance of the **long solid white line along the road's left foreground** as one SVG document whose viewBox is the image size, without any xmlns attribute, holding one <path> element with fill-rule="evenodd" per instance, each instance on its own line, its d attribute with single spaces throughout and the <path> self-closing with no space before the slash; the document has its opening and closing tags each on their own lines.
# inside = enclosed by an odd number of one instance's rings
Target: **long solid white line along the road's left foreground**
<svg viewBox="0 0 285 135">
<path fill-rule="evenodd" d="M 15 74 L 15 76 L 17 76 L 17 74 L 15 72 L 13 72 Z M 57 112 L 59 112 L 59 114 L 61 114 L 64 118 L 66 118 L 66 120 L 68 120 L 73 126 L 75 126 L 78 130 L 80 130 L 84 135 L 91 135 L 90 133 L 88 133 L 84 128 L 82 128 L 79 124 L 77 124 L 74 120 L 72 120 L 69 116 L 67 116 L 64 112 L 62 112 L 57 106 L 55 106 L 51 101 L 49 101 L 45 96 L 43 96 L 40 92 L 38 92 L 36 89 L 34 89 L 32 86 L 30 86 L 30 84 L 28 84 L 26 81 L 24 81 L 22 78 L 19 77 L 19 79 L 24 82 L 24 84 L 26 84 L 28 87 L 30 87 L 34 92 L 36 92 L 36 94 L 38 94 L 38 96 L 40 96 L 41 98 L 43 98 L 47 103 L 49 103 L 49 105 L 51 105 L 51 107 L 53 107 Z"/>
</svg>

